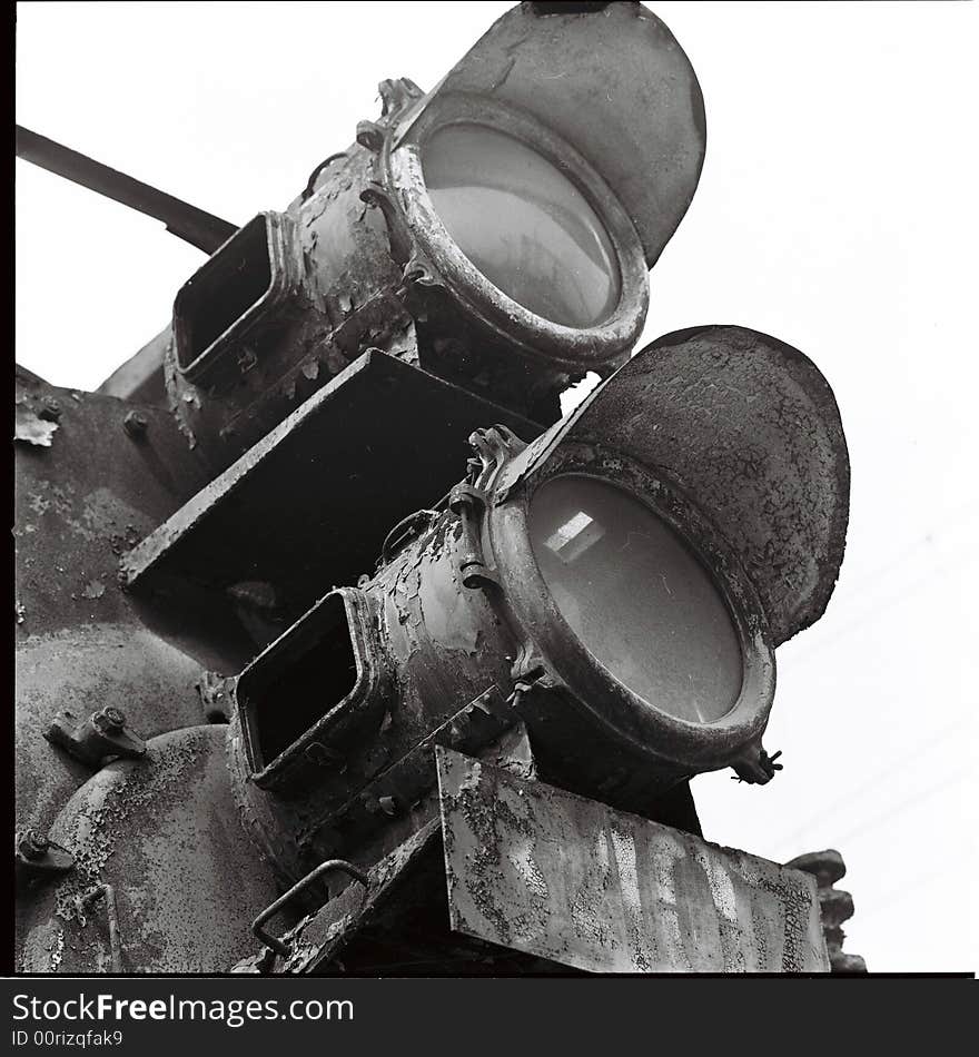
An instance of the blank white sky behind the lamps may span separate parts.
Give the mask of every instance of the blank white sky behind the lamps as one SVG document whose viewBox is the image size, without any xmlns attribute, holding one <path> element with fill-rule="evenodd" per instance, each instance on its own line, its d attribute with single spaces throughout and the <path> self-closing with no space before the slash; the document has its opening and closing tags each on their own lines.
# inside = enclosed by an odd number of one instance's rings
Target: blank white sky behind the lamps
<svg viewBox="0 0 979 1057">
<path fill-rule="evenodd" d="M 376 117 L 382 78 L 432 87 L 507 7 L 20 3 L 17 120 L 244 224 Z M 778 651 L 785 770 L 696 779 L 704 831 L 778 861 L 840 849 L 846 949 L 871 969 L 977 969 L 977 8 L 650 7 L 709 139 L 645 336 L 739 323 L 798 346 L 852 463 L 837 592 Z M 59 385 L 97 386 L 204 259 L 22 161 L 17 225 L 18 359 Z"/>
</svg>

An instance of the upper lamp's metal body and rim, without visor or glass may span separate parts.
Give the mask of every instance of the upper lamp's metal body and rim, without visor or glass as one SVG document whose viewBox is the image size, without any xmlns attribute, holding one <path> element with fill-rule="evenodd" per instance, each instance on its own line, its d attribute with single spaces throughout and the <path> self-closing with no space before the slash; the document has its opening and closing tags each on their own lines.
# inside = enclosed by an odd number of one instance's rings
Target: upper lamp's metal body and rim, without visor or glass
<svg viewBox="0 0 979 1057">
<path fill-rule="evenodd" d="M 634 346 L 647 266 L 602 177 L 518 110 L 481 97 L 414 98 L 404 85 L 387 89 L 385 122 L 362 130 L 307 198 L 259 214 L 179 290 L 167 384 L 186 431 L 207 448 L 231 453 L 258 439 L 297 395 L 372 345 L 543 421 L 556 417 L 572 379 L 607 374 Z M 585 327 L 546 319 L 462 253 L 424 176 L 426 142 L 456 125 L 525 144 L 583 194 L 614 249 L 619 294 L 607 318 Z"/>
</svg>

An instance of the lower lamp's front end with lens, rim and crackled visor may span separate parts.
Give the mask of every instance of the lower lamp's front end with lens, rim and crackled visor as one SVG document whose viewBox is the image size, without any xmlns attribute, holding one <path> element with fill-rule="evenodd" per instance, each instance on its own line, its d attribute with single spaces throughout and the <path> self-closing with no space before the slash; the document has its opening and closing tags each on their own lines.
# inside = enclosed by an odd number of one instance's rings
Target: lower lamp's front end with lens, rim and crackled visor
<svg viewBox="0 0 979 1057">
<path fill-rule="evenodd" d="M 626 800 L 724 765 L 767 782 L 773 651 L 822 613 L 847 524 L 812 363 L 739 327 L 668 335 L 482 473 L 484 562 L 551 691 L 545 765 Z"/>
</svg>

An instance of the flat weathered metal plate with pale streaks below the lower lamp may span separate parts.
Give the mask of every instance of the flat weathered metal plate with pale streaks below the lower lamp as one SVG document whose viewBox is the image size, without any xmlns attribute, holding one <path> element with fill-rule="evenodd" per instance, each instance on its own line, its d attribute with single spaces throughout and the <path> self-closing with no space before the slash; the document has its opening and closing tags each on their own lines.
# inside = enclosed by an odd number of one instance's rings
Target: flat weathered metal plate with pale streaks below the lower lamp
<svg viewBox="0 0 979 1057">
<path fill-rule="evenodd" d="M 436 749 L 449 923 L 593 972 L 829 972 L 814 879 Z"/>
</svg>

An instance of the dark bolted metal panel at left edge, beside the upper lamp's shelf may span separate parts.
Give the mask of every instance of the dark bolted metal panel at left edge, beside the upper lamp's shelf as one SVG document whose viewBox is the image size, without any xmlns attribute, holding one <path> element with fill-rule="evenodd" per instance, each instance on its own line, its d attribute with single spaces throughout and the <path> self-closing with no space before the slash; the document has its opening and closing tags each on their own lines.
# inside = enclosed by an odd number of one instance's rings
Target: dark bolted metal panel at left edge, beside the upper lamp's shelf
<svg viewBox="0 0 979 1057">
<path fill-rule="evenodd" d="M 159 407 L 18 373 L 14 408 L 18 424 L 57 426 L 47 444 L 14 444 L 18 640 L 127 619 L 119 559 L 194 495 L 205 468 Z"/>
</svg>

